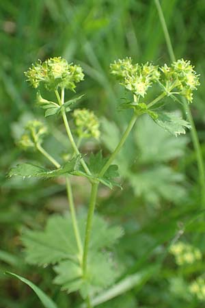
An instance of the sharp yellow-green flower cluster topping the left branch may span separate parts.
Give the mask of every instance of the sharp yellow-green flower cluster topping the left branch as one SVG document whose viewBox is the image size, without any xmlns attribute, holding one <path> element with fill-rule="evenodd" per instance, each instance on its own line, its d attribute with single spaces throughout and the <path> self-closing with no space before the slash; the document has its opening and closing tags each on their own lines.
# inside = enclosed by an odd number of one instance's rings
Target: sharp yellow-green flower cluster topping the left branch
<svg viewBox="0 0 205 308">
<path fill-rule="evenodd" d="M 32 64 L 25 75 L 33 88 L 38 88 L 42 83 L 48 90 L 55 90 L 58 87 L 74 90 L 76 84 L 84 77 L 81 66 L 68 64 L 61 57 Z"/>
</svg>

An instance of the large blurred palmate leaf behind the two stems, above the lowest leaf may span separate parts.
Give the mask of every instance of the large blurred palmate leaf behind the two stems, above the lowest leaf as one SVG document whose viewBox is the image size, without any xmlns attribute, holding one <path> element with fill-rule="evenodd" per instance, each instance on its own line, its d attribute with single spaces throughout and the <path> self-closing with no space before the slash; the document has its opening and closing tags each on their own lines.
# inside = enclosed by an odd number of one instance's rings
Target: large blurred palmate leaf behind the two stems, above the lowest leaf
<svg viewBox="0 0 205 308">
<path fill-rule="evenodd" d="M 81 239 L 84 240 L 85 216 L 78 218 Z M 120 227 L 109 227 L 107 222 L 94 217 L 90 240 L 90 249 L 97 251 L 100 248 L 112 246 L 122 237 Z M 55 264 L 61 260 L 77 260 L 77 248 L 72 220 L 70 217 L 51 216 L 44 231 L 26 230 L 22 235 L 25 246 L 26 260 L 29 264 Z"/>
</svg>

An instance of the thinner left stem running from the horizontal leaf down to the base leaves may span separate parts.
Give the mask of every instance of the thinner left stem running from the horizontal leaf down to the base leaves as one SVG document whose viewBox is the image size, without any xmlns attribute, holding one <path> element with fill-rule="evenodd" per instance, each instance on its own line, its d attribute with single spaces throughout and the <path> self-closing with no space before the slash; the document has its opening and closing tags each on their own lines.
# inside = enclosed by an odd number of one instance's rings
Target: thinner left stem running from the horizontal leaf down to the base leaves
<svg viewBox="0 0 205 308">
<path fill-rule="evenodd" d="M 75 209 L 74 209 L 74 201 L 73 201 L 73 196 L 72 196 L 72 187 L 70 184 L 70 181 L 68 179 L 68 177 L 66 177 L 66 189 L 67 189 L 67 194 L 68 194 L 68 201 L 69 201 L 69 205 L 70 205 L 70 214 L 71 214 L 71 218 L 72 218 L 72 226 L 74 229 L 74 235 L 77 241 L 77 246 L 79 248 L 79 254 L 80 254 L 80 261 L 81 261 L 81 257 L 83 255 L 83 246 L 82 246 L 82 242 L 81 242 L 81 235 L 79 233 L 79 227 L 77 224 L 77 217 L 76 217 L 76 213 L 75 213 Z"/>
</svg>

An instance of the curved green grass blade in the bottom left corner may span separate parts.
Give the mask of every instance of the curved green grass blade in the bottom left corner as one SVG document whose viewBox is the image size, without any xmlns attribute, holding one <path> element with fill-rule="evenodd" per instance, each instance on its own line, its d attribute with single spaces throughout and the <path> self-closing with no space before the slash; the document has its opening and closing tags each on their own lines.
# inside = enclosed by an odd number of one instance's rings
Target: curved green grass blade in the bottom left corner
<svg viewBox="0 0 205 308">
<path fill-rule="evenodd" d="M 49 296 L 47 296 L 44 292 L 42 292 L 42 290 L 40 290 L 39 287 L 34 285 L 34 283 L 31 283 L 31 281 L 29 281 L 29 280 L 27 280 L 27 279 L 25 279 L 21 276 L 18 276 L 16 274 L 14 274 L 13 272 L 5 272 L 5 274 L 8 274 L 12 277 L 15 277 L 15 278 L 19 279 L 20 281 L 23 281 L 23 283 L 26 283 L 27 285 L 29 285 L 29 287 L 31 287 L 31 289 L 36 293 L 38 298 L 40 298 L 40 301 L 44 305 L 45 308 L 57 308 L 57 305 L 55 305 L 53 300 L 51 300 L 51 298 L 49 298 Z"/>
</svg>

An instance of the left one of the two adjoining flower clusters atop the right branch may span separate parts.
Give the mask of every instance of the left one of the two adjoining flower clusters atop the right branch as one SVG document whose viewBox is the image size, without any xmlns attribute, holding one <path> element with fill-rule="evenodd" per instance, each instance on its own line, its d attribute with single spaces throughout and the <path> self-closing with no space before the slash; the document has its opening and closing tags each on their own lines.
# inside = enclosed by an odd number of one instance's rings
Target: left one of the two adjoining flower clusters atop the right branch
<svg viewBox="0 0 205 308">
<path fill-rule="evenodd" d="M 114 75 L 122 86 L 130 90 L 137 97 L 144 97 L 148 88 L 160 77 L 158 66 L 150 63 L 133 64 L 131 57 L 115 61 L 110 66 Z"/>
</svg>

